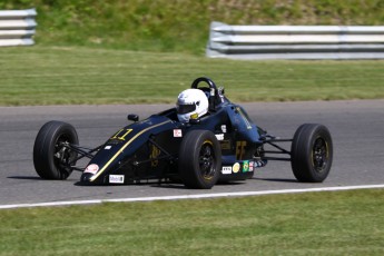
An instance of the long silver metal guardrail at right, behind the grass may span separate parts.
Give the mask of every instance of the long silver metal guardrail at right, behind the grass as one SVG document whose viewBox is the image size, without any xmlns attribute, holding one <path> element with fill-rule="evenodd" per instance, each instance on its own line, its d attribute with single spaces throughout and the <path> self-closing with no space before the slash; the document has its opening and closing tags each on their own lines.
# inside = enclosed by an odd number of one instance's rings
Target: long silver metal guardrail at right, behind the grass
<svg viewBox="0 0 384 256">
<path fill-rule="evenodd" d="M 232 59 L 384 59 L 384 26 L 211 22 L 206 53 Z"/>
</svg>

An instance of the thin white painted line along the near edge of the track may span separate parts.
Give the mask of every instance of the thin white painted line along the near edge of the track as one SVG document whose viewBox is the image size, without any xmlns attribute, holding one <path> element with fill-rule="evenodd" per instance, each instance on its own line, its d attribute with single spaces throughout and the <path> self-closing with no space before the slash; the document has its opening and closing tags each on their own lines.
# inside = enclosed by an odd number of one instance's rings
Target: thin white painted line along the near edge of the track
<svg viewBox="0 0 384 256">
<path fill-rule="evenodd" d="M 382 184 L 382 185 L 345 186 L 345 187 L 282 189 L 282 190 L 265 190 L 265 191 L 238 191 L 238 193 L 216 193 L 216 194 L 181 195 L 181 196 L 136 197 L 136 198 L 119 198 L 119 199 L 50 201 L 50 203 L 36 203 L 36 204 L 0 205 L 0 209 L 27 208 L 27 207 L 47 207 L 47 206 L 69 206 L 69 205 L 90 205 L 90 204 L 102 204 L 102 203 L 129 203 L 129 201 L 154 201 L 154 200 L 201 199 L 201 198 L 218 198 L 218 197 L 262 196 L 262 195 L 298 194 L 298 193 L 314 193 L 314 191 L 339 191 L 339 190 L 370 189 L 370 188 L 384 188 L 384 184 Z"/>
</svg>

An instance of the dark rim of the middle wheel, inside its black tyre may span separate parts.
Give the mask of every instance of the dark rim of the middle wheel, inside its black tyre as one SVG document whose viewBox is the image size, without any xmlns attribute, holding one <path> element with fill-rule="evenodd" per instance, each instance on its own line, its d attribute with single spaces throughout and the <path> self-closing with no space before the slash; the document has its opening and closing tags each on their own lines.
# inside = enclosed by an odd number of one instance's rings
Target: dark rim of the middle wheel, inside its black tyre
<svg viewBox="0 0 384 256">
<path fill-rule="evenodd" d="M 204 179 L 211 179 L 216 171 L 215 151 L 210 141 L 205 141 L 199 152 L 199 168 Z"/>
</svg>

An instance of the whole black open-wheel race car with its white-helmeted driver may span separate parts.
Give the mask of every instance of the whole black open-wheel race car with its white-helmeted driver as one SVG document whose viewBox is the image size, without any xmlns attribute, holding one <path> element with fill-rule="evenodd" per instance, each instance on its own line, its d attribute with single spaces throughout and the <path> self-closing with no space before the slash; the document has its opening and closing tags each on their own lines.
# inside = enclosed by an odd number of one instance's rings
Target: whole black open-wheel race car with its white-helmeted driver
<svg viewBox="0 0 384 256">
<path fill-rule="evenodd" d="M 43 179 L 66 179 L 82 171 L 80 184 L 181 181 L 209 189 L 218 181 L 245 180 L 268 160 L 291 161 L 298 181 L 322 183 L 329 173 L 333 144 L 323 125 L 305 124 L 293 139 L 279 139 L 250 120 L 209 78 L 197 78 L 175 108 L 145 120 L 128 115 L 130 125 L 97 148 L 80 147 L 76 129 L 49 121 L 37 135 L 33 164 Z M 279 142 L 292 142 L 291 150 Z M 85 167 L 76 166 L 89 158 Z"/>
</svg>

